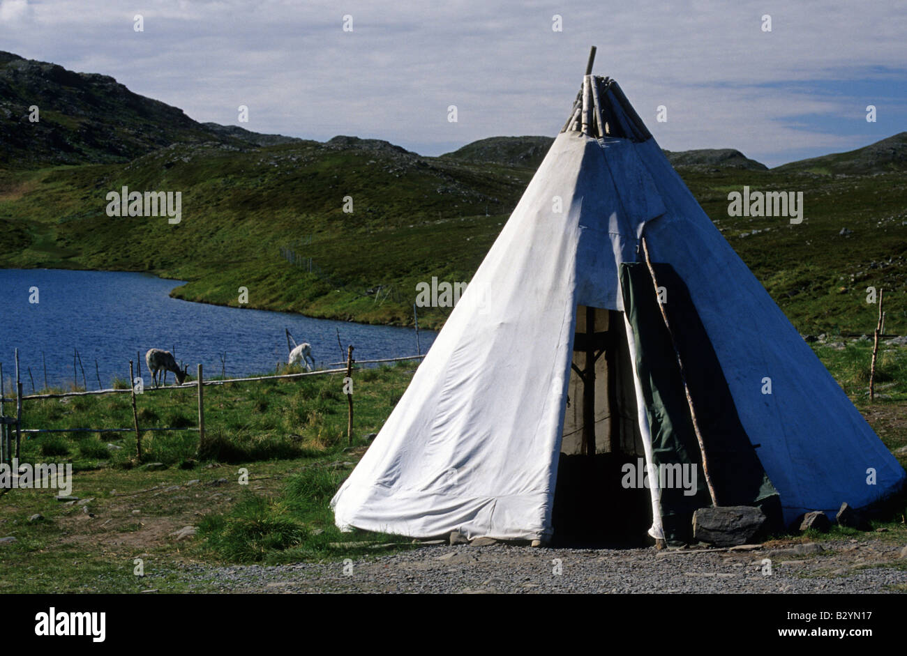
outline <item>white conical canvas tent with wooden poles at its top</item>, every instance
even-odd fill
[[[583,476],[614,485],[569,486]],[[331,505],[345,529],[542,542],[566,506],[595,525],[632,507],[652,537],[685,539],[713,496],[789,524],[903,481],[617,82],[587,75]]]

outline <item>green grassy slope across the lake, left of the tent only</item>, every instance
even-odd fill
[[[410,323],[415,284],[469,280],[531,175],[350,138],[177,144],[126,166],[0,171],[0,265],[155,271],[189,280],[178,291],[189,300],[237,304],[246,286],[252,307]],[[107,217],[105,195],[122,186],[181,191],[180,224]],[[366,294],[379,285],[380,299]],[[444,310],[424,319],[436,325]]]

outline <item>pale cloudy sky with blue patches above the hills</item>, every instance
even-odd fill
[[[423,155],[555,136],[591,45],[668,150],[771,167],[907,130],[901,0],[0,0],[0,50],[111,75],[196,121]]]

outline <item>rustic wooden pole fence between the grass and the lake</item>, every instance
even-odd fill
[[[234,382],[259,382],[259,381],[276,381],[276,380],[292,380],[298,378],[306,378],[308,376],[324,376],[324,375],[336,375],[338,373],[345,374],[346,378],[352,381],[353,371],[360,368],[363,364],[372,364],[378,362],[405,362],[412,360],[420,360],[423,355],[412,355],[402,358],[383,358],[380,360],[364,360],[362,362],[356,362],[353,360],[353,346],[349,346],[347,349],[346,362],[333,362],[328,366],[335,365],[344,365],[343,368],[339,369],[322,369],[317,371],[303,371],[299,373],[280,373],[274,375],[266,376],[249,376],[245,378],[229,378],[229,379],[219,379],[219,380],[204,380],[202,373],[201,364],[198,365],[197,378],[195,381],[184,382],[182,384],[174,384],[170,386],[161,386],[161,387],[148,387],[145,388],[141,385],[141,391],[139,394],[146,393],[159,393],[164,391],[183,391],[195,389],[197,407],[199,412],[198,425],[195,427],[176,427],[176,428],[152,428],[146,427],[141,428],[139,426],[139,417],[137,410],[136,402],[136,384],[133,377],[133,362],[129,362],[130,367],[130,387],[127,389],[107,389],[107,390],[92,390],[92,391],[63,391],[63,392],[45,392],[40,394],[28,394],[24,395],[22,393],[22,381],[20,380],[20,369],[19,369],[19,350],[15,350],[15,399],[14,398],[5,398],[5,381],[3,376],[3,363],[0,362],[0,462],[11,462],[12,458],[19,458],[20,448],[21,448],[21,439],[25,435],[26,438],[29,435],[36,433],[69,433],[69,432],[94,432],[94,433],[116,433],[116,432],[134,432],[136,439],[136,455],[138,459],[141,460],[141,433],[146,430],[154,431],[168,431],[168,430],[192,430],[198,431],[200,439],[204,438],[205,435],[205,406],[204,406],[204,388],[209,385],[226,385]],[[356,366],[359,365],[359,366]],[[73,428],[73,429],[23,429],[22,420],[23,420],[23,407],[25,401],[32,400],[46,400],[46,399],[65,399],[70,397],[80,397],[80,396],[98,396],[105,394],[130,394],[132,402],[132,427],[131,428],[104,428],[104,429],[95,429],[95,428]],[[352,391],[346,393],[347,401],[347,439],[349,443],[353,442],[353,394]],[[7,416],[5,414],[5,403],[15,403],[15,415]],[[14,439],[15,438],[15,439]],[[14,446],[15,443],[15,446]]]

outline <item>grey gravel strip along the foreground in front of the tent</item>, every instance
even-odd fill
[[[907,592],[907,547],[879,539],[746,550],[548,549],[432,545],[371,560],[188,565],[225,593],[887,593]],[[805,552],[805,553],[804,553]],[[771,574],[764,574],[764,559]],[[556,570],[559,568],[560,573]]]

